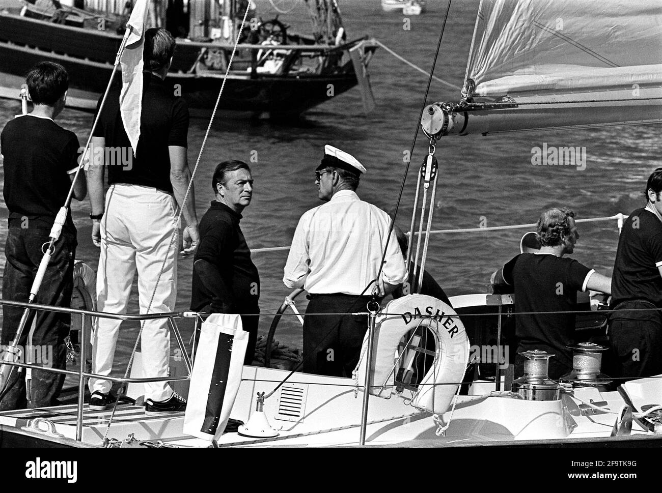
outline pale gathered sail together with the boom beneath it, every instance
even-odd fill
[[[662,2],[481,0],[455,109],[446,134],[662,122]]]

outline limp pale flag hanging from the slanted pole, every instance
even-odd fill
[[[138,149],[140,138],[140,114],[142,105],[142,51],[148,14],[148,0],[138,0],[133,6],[131,17],[126,22],[124,51],[120,56],[122,66],[122,91],[120,113],[133,154]]]

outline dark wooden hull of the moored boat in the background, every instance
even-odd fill
[[[0,72],[24,77],[37,62],[51,60],[62,64],[70,74],[71,88],[87,93],[78,95],[77,99],[86,101],[76,101],[75,107],[93,110],[111,76],[120,41],[120,36],[108,32],[0,14]],[[166,81],[173,87],[179,87],[191,109],[211,111],[224,73],[199,70],[190,73],[201,49],[205,47],[224,49],[220,45],[178,40],[173,66]],[[293,116],[357,84],[354,66],[348,61],[326,75],[294,72],[252,74],[246,60],[238,60],[233,68],[218,104],[221,110]],[[17,91],[19,88],[20,85]],[[11,97],[11,89],[3,86],[0,95],[9,94]]]

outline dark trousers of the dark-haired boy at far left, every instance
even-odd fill
[[[49,228],[30,226],[20,228],[10,226],[5,245],[5,273],[3,275],[3,298],[5,300],[27,302],[30,296],[32,281],[43,257],[42,245],[48,242]],[[38,304],[53,306],[71,306],[71,291],[73,289],[73,261],[75,258],[75,235],[63,231],[55,244],[48,269],[44,275],[41,287],[34,298]],[[23,308],[3,306],[3,328],[1,343],[3,347],[11,343],[16,336],[23,315]],[[69,314],[55,312],[31,311],[23,330],[19,345],[23,349],[28,346],[28,334],[35,320],[32,334],[33,355],[42,355],[42,363],[52,368],[66,368],[66,345],[64,339],[69,334]],[[52,351],[52,352],[51,352]],[[52,361],[46,361],[52,355]],[[44,357],[46,356],[46,357]],[[25,363],[26,361],[21,361]],[[31,396],[27,402],[25,375],[26,371],[16,368],[9,379],[7,394],[0,402],[0,410],[13,410],[25,408],[29,404],[33,408],[56,406],[58,396],[64,384],[64,375],[46,371],[32,370]]]

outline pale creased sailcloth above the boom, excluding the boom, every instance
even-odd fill
[[[475,95],[662,83],[659,0],[481,0],[466,78]]]

